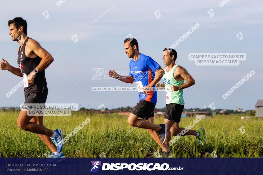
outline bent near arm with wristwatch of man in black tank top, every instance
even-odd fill
[[[26,46],[28,49],[30,49],[30,51],[42,58],[39,65],[36,66],[36,70],[38,70],[38,72],[42,72],[43,70],[47,69],[48,66],[54,61],[54,58],[50,55],[50,53],[42,48],[37,41],[29,39]]]

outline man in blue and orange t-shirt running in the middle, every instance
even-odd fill
[[[164,71],[151,57],[139,52],[139,45],[135,38],[126,38],[123,43],[125,53],[129,58],[132,58],[129,64],[129,75],[121,76],[114,70],[110,70],[108,76],[125,83],[136,83],[139,103],[129,115],[128,123],[133,127],[147,129],[163,151],[167,151],[167,147],[163,145],[166,140],[167,125],[157,125],[153,122],[154,109],[157,103],[155,87],[156,83],[163,77]],[[139,117],[142,119],[138,119]]]

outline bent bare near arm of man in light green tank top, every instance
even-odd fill
[[[192,76],[187,72],[185,68],[178,66],[177,72],[178,72],[177,74],[181,75],[181,77],[184,78],[186,82],[180,86],[171,86],[172,91],[178,91],[181,89],[185,89],[195,84],[194,78],[192,78]]]

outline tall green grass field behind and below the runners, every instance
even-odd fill
[[[16,125],[18,112],[0,112],[0,157],[45,157],[50,151],[36,134],[22,131]],[[170,146],[175,157],[261,157],[263,156],[263,119],[251,117],[241,120],[242,115],[217,115],[202,119],[193,129],[203,126],[207,144],[203,147],[193,136],[182,136]],[[127,117],[114,114],[73,113],[70,117],[45,117],[47,128],[62,128],[64,137],[70,134],[86,118],[90,122],[65,143],[66,157],[154,157],[160,150],[145,129],[128,125]],[[180,126],[189,125],[193,117],[182,118]],[[163,117],[155,117],[162,123]],[[238,129],[244,126],[242,135]],[[75,130],[76,131],[76,130]],[[173,137],[172,137],[173,138]]]

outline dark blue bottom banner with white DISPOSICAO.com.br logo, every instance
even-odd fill
[[[262,158],[0,158],[0,174],[263,174]]]

